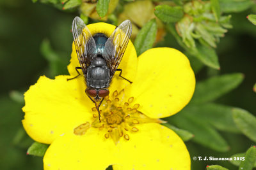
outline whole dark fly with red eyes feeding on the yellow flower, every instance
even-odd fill
[[[99,121],[99,107],[104,97],[109,95],[108,88],[115,72],[120,71],[119,76],[124,78],[122,69],[117,67],[129,43],[131,32],[132,24],[130,20],[122,22],[109,37],[103,33],[92,35],[81,18],[75,17],[73,20],[72,33],[80,63],[80,67],[76,67],[77,76],[80,75],[77,69],[81,69],[86,82],[85,92],[97,108]],[[77,76],[74,78],[77,78]]]

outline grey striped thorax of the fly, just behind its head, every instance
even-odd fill
[[[103,89],[109,87],[109,68],[106,66],[89,66],[87,70],[86,83],[88,87]]]

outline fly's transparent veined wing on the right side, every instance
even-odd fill
[[[111,77],[119,66],[132,33],[130,20],[122,22],[105,43],[103,58],[108,62]]]

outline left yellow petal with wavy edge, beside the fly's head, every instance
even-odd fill
[[[70,76],[51,80],[41,76],[25,93],[22,124],[31,138],[40,143],[52,141],[64,132],[92,119],[95,106],[84,92],[83,78]]]

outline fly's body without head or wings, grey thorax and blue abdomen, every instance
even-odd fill
[[[97,53],[97,57],[92,60],[87,69],[86,84],[93,89],[105,89],[109,87],[111,80],[109,67],[102,57],[108,38],[102,33],[97,33],[93,36],[93,39],[96,44],[95,53]]]

